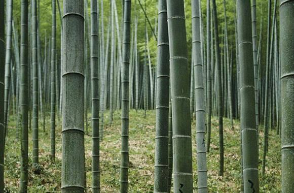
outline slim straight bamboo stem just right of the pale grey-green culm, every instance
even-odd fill
[[[206,69],[207,69],[207,146],[206,150],[209,152],[210,135],[211,135],[211,64],[210,64],[210,0],[206,3]]]

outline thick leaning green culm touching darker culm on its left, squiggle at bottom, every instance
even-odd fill
[[[192,193],[190,78],[183,1],[167,1],[167,16],[173,118],[173,187],[175,193]]]

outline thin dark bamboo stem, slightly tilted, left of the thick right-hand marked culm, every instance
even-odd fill
[[[214,36],[216,49],[216,65],[217,65],[217,90],[218,90],[218,133],[219,133],[219,176],[224,175],[224,128],[223,128],[223,88],[222,88],[222,66],[220,64],[220,49],[218,37],[218,21],[215,0],[212,0],[213,19],[214,19]]]

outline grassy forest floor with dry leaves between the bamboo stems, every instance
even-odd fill
[[[119,192],[121,119],[120,112],[114,113],[114,121],[108,124],[109,112],[104,115],[104,138],[100,143],[101,192]],[[229,119],[224,119],[225,172],[218,176],[218,123],[212,118],[211,150],[207,154],[209,192],[240,192],[240,127],[235,120],[232,130]],[[87,192],[91,192],[91,122],[88,116],[88,134],[85,135],[85,155],[87,171]],[[31,170],[32,135],[29,131],[29,192],[60,192],[61,186],[61,120],[56,127],[56,158],[50,160],[50,115],[47,115],[45,132],[42,120],[39,124],[39,153],[41,174]],[[129,126],[130,169],[129,192],[153,192],[154,153],[155,153],[155,111],[130,111]],[[197,192],[195,120],[193,120],[193,179],[194,192]],[[262,168],[263,128],[260,128],[260,171]],[[280,138],[275,130],[269,134],[269,151],[265,175],[260,172],[260,192],[280,192],[281,189],[281,153]],[[5,150],[6,192],[17,192],[20,176],[20,140],[17,138],[16,120],[10,117],[10,125]]]

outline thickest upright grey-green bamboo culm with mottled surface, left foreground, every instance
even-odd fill
[[[63,1],[61,192],[84,192],[84,1]]]

